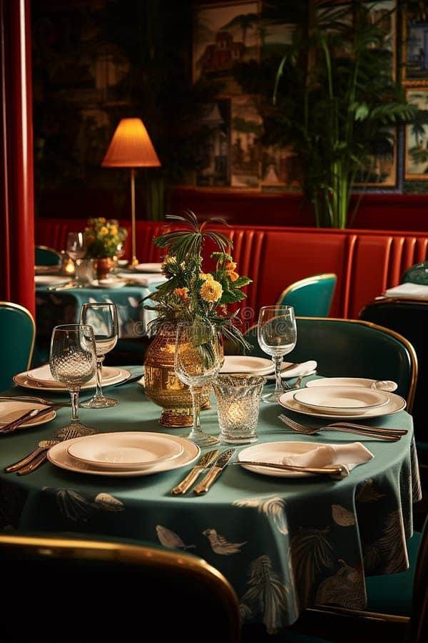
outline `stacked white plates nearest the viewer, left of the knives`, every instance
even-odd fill
[[[98,433],[51,447],[61,469],[96,476],[147,476],[193,462],[200,448],[183,437],[148,432]]]

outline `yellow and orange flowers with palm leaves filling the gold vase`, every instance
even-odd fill
[[[238,266],[230,254],[232,241],[225,234],[206,229],[210,221],[203,224],[192,211],[183,215],[169,215],[167,219],[179,221],[184,229],[173,230],[153,239],[158,248],[165,248],[162,272],[168,278],[157,286],[149,297],[155,304],[146,309],[157,312],[156,319],[149,323],[151,334],[167,321],[209,321],[225,339],[250,349],[243,333],[238,328],[238,310],[228,310],[230,304],[243,301],[246,295],[243,286],[251,283],[247,276],[238,274]],[[212,219],[214,221],[215,219]],[[215,269],[203,269],[203,241],[210,239],[218,246],[210,258],[215,261]]]

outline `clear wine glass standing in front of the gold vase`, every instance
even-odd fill
[[[180,321],[175,339],[174,368],[178,379],[187,384],[192,396],[193,427],[186,436],[199,447],[218,444],[220,438],[200,428],[200,394],[203,385],[220,370],[220,347],[215,327],[209,323]]]

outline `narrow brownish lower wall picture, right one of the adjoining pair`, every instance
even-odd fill
[[[234,96],[230,103],[232,187],[259,187],[263,121],[255,100],[252,96]]]

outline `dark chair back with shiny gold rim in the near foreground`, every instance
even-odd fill
[[[0,535],[8,585],[2,641],[9,642],[7,633],[20,643],[238,643],[238,598],[203,559],[152,544],[86,538]],[[19,623],[16,601],[23,605]]]

